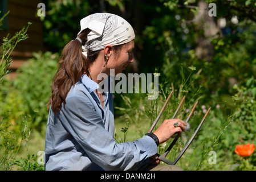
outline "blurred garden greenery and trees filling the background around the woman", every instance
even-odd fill
[[[194,127],[204,109],[212,107],[178,166],[186,170],[255,169],[255,154],[242,158],[234,150],[238,144],[255,144],[256,1],[42,2],[46,5],[46,16],[40,17],[44,50],[34,53],[18,69],[17,78],[3,77],[0,87],[0,119],[11,123],[11,132],[21,130],[24,121],[21,116],[31,117],[31,134],[27,136],[30,140],[23,142],[18,159],[8,164],[9,169],[40,168],[36,154],[44,150],[48,117],[44,105],[51,95],[59,54],[76,38],[80,19],[97,12],[120,15],[135,30],[135,63],[124,73],[160,73],[157,100],[147,100],[147,94],[115,94],[117,142],[134,140],[147,133],[169,91],[174,90],[171,106],[162,119],[172,117],[174,106],[184,95],[186,103],[179,117],[185,117],[186,109],[199,101],[192,119]],[[216,9],[209,7],[210,3],[215,3]],[[216,16],[210,16],[210,10],[216,10]],[[179,144],[176,152],[169,154],[170,158],[180,151],[182,140]],[[160,146],[159,152],[164,148]],[[209,151],[216,152],[216,164],[210,164]],[[34,168],[29,167],[31,164]]]

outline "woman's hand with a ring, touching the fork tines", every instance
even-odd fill
[[[174,123],[178,123],[177,126],[173,126]],[[154,132],[154,134],[159,138],[159,143],[164,143],[172,135],[182,131],[185,131],[186,123],[181,119],[166,119]]]

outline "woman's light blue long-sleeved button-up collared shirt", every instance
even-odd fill
[[[157,153],[155,141],[148,136],[116,143],[110,86],[104,93],[104,109],[94,92],[97,88],[96,82],[83,75],[70,89],[60,112],[55,115],[50,109],[46,170],[135,170]]]

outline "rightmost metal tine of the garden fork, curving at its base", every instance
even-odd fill
[[[190,144],[192,143],[192,141],[194,140],[194,138],[196,137],[198,131],[200,130],[202,124],[204,123],[209,111],[210,111],[211,107],[208,109],[208,111],[205,113],[204,118],[202,118],[201,123],[198,125],[196,131],[194,132],[194,134],[192,135],[192,137],[189,139],[189,142],[186,144],[186,146],[182,149],[182,151],[180,152],[180,154],[178,154],[177,158],[173,160],[173,162],[169,161],[166,158],[163,158],[162,156],[159,156],[159,159],[162,160],[163,162],[165,162],[166,164],[170,164],[170,165],[175,165],[178,160],[181,158],[181,156],[185,153],[185,151],[188,149],[188,147],[190,146]]]

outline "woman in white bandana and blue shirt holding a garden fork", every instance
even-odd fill
[[[96,13],[64,47],[52,83],[46,130],[46,170],[135,170],[156,158],[157,146],[186,123],[166,119],[151,135],[116,144],[112,94],[98,92],[100,73],[121,73],[133,62],[135,34],[120,16]],[[173,124],[178,123],[178,127]],[[156,163],[159,163],[157,160]],[[166,165],[162,165],[166,166]],[[171,167],[173,168],[173,167]]]

